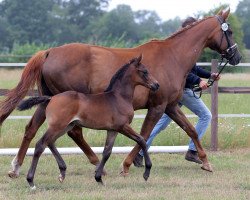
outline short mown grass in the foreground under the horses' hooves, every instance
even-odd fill
[[[153,167],[147,182],[143,168],[131,167],[128,177],[120,177],[119,166],[125,155],[111,155],[107,162],[105,186],[94,180],[94,167],[81,155],[63,156],[68,166],[65,181],[52,156],[42,156],[35,175],[35,192],[29,189],[26,173],[31,157],[26,157],[21,177],[10,179],[6,172],[12,157],[1,156],[0,199],[36,200],[129,200],[129,199],[250,199],[250,148],[208,152],[214,172],[184,160],[183,154],[151,154]]]

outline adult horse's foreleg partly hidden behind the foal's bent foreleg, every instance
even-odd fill
[[[161,105],[158,107],[153,107],[148,109],[148,113],[146,115],[146,118],[143,122],[142,128],[141,128],[141,135],[145,140],[148,139],[151,131],[153,130],[155,124],[159,121],[161,118],[163,112],[165,110],[165,105]],[[140,146],[138,144],[135,145],[135,147],[132,149],[132,151],[129,153],[129,155],[125,158],[125,160],[122,163],[122,171],[121,174],[128,174],[129,167],[133,163],[133,160],[137,153],[140,151]]]

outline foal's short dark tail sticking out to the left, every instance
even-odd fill
[[[17,110],[23,111],[28,110],[32,108],[35,105],[38,105],[40,103],[48,103],[50,101],[51,97],[49,96],[42,96],[42,97],[31,97],[29,99],[21,101],[18,106]]]

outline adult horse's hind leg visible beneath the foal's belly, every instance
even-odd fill
[[[81,150],[88,157],[89,162],[93,165],[98,165],[100,163],[97,155],[93,152],[88,143],[84,140],[82,136],[82,128],[78,126],[74,126],[71,131],[68,131],[69,137],[71,137],[74,142],[81,148]]]

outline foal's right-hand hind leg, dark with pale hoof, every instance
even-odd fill
[[[55,147],[55,143],[49,144],[48,147],[49,147],[50,151],[52,152],[52,154],[54,155],[56,162],[58,164],[58,167],[60,170],[60,175],[58,177],[58,180],[62,183],[63,180],[65,179],[67,166],[66,166],[63,158],[61,157],[60,153],[58,152],[57,148]]]

